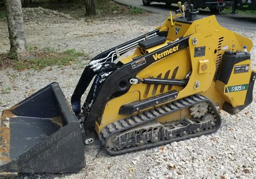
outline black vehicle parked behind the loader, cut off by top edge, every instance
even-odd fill
[[[165,3],[171,5],[172,3],[178,3],[180,0],[142,0],[143,5],[150,5],[151,2]],[[249,0],[250,1],[250,0]],[[255,0],[254,0],[255,1]],[[226,5],[230,5],[232,1],[214,1],[214,0],[181,0],[181,3],[187,8],[190,4],[194,5],[194,8],[209,8],[212,12],[218,12],[225,8]]]

